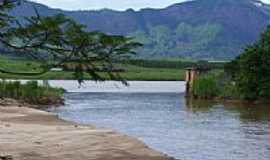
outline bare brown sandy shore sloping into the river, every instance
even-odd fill
[[[0,106],[0,160],[8,155],[13,160],[169,159],[111,130],[76,125],[36,109]]]

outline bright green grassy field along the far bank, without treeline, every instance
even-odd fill
[[[146,80],[146,81],[177,81],[185,79],[185,71],[180,68],[160,68],[159,66],[144,67],[136,64],[118,64],[120,68],[126,70],[121,73],[121,76],[126,80]],[[38,72],[39,64],[31,61],[10,60],[5,57],[0,57],[0,68],[16,72]],[[106,75],[103,74],[105,77]],[[61,79],[72,80],[72,72],[48,72],[41,76],[26,77],[0,73],[0,78],[7,79]],[[91,79],[90,76],[86,76]]]

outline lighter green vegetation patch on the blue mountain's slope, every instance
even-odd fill
[[[143,57],[182,55],[195,59],[212,59],[218,57],[218,53],[228,52],[226,48],[213,48],[214,41],[221,31],[222,26],[218,24],[193,26],[180,23],[175,29],[165,25],[148,26],[147,33],[137,30],[131,36],[143,43],[144,47],[138,49],[138,53]]]

